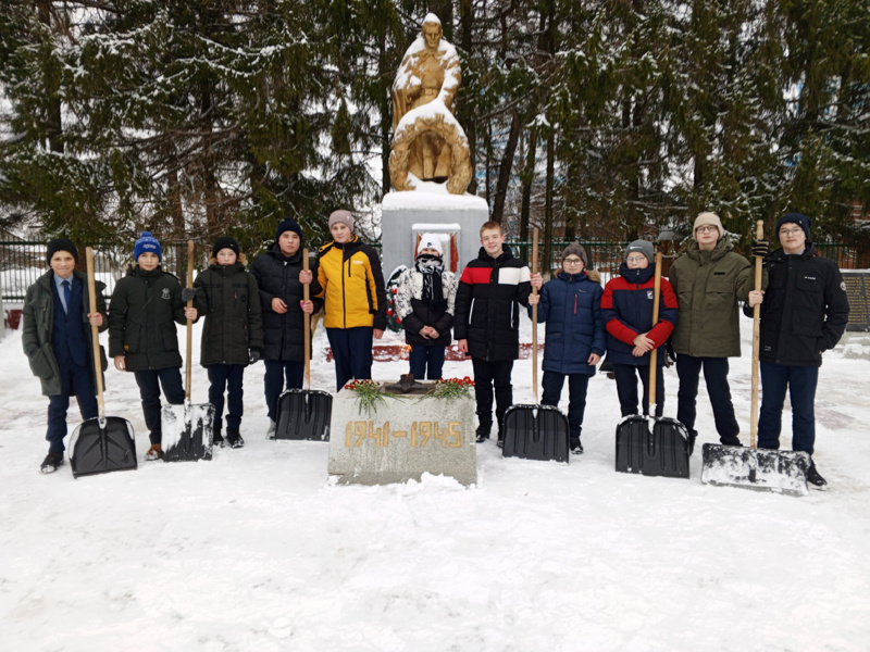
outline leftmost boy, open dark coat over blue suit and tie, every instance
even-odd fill
[[[88,313],[87,275],[75,269],[78,250],[71,240],[51,240],[46,248],[51,267],[27,288],[22,310],[22,344],[30,371],[42,384],[48,397],[48,455],[39,467],[54,473],[63,464],[63,438],[66,436],[66,411],[75,396],[83,419],[98,414],[94,348],[90,326],[109,327],[105,314],[105,286],[97,281],[97,312]],[[105,353],[100,347],[100,369],[105,368]]]

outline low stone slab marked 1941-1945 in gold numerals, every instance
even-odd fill
[[[330,475],[341,485],[420,480],[424,473],[476,482],[474,400],[398,396],[386,397],[374,414],[360,414],[351,389],[334,397]]]

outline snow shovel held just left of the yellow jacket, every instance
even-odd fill
[[[308,249],[302,250],[302,269],[308,272]],[[309,300],[309,284],[302,284],[302,298]],[[304,313],[304,349],[308,389],[287,389],[278,397],[275,439],[330,441],[333,397],[311,389],[311,315],[308,313]]]

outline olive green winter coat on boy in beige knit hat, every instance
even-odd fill
[[[724,238],[712,251],[700,251],[693,241],[671,265],[668,279],[680,304],[671,336],[678,354],[739,356],[739,302],[755,289],[755,274],[749,261],[733,249]]]

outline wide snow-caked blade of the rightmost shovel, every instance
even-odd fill
[[[705,443],[700,481],[717,487],[743,487],[787,496],[807,496],[809,455]]]

